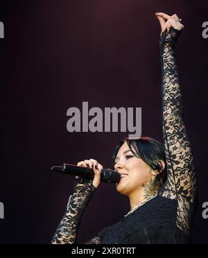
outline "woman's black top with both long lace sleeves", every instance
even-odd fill
[[[162,33],[162,121],[168,178],[157,196],[86,243],[189,243],[196,199],[196,174],[182,119],[182,92],[177,74],[175,42],[181,31]],[[77,243],[83,212],[96,191],[92,180],[76,178],[67,211],[52,243]]]

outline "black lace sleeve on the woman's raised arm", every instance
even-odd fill
[[[177,71],[175,42],[182,31],[162,33],[162,121],[168,178],[161,196],[177,200],[177,227],[189,232],[196,198],[196,173],[183,121],[182,89]]]

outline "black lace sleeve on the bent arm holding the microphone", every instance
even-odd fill
[[[74,180],[73,193],[69,196],[67,210],[53,235],[52,243],[77,243],[80,221],[95,190],[92,180]]]

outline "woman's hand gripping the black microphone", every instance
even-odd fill
[[[103,169],[103,166],[93,159],[78,162],[77,166],[90,167],[94,170],[94,180],[92,184],[94,187],[98,188],[98,185],[101,182],[101,170]]]

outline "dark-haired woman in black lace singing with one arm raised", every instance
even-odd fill
[[[182,92],[175,43],[184,26],[177,15],[156,13],[162,28],[162,127],[164,144],[150,137],[124,139],[113,155],[121,173],[116,184],[128,196],[130,212],[86,243],[189,243],[196,201],[196,173],[182,116]],[[52,243],[77,243],[78,228],[90,198],[100,184],[103,166],[96,160],[78,162],[94,169],[94,180],[76,178],[67,211]]]

